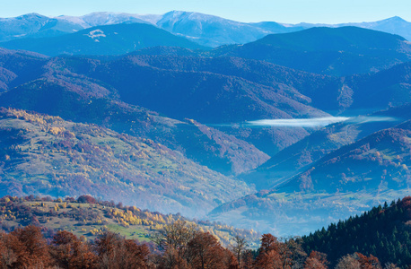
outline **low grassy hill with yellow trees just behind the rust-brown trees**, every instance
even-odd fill
[[[136,206],[127,206],[113,201],[101,201],[91,195],[81,195],[76,199],[53,199],[50,196],[13,197],[6,195],[0,198],[0,229],[11,232],[30,224],[41,226],[45,235],[50,238],[56,230],[71,230],[77,235],[82,233],[88,239],[107,230],[106,225],[117,224],[120,229],[144,228],[148,234],[162,230],[165,225],[174,221],[186,221],[208,231],[224,246],[230,244],[233,236],[239,235],[250,242],[258,241],[254,230],[237,229],[214,221],[189,220],[177,214],[162,214],[141,210]],[[61,223],[56,226],[56,223]],[[70,224],[70,225],[68,225]],[[86,230],[86,231],[82,231]]]

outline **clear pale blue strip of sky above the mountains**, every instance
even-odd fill
[[[411,22],[410,0],[0,0],[0,4],[0,17],[183,10],[240,22],[373,22],[393,16]]]

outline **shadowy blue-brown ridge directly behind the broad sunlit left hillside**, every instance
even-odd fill
[[[4,70],[13,73],[16,76],[14,81],[17,81],[24,78],[26,71],[13,65],[19,61],[21,64],[17,66],[31,62],[26,63],[20,54],[13,56],[12,52],[4,60],[4,66],[15,73]],[[116,89],[107,84],[74,74],[67,67],[53,69],[58,62],[65,60],[55,58],[46,61],[42,57],[38,58],[35,66],[39,76],[4,92],[0,106],[35,110],[152,139],[224,174],[254,169],[268,159],[265,153],[258,151],[252,144],[223,134],[213,127],[206,128],[188,119],[162,117],[153,110],[122,102],[118,100]],[[87,59],[84,62],[92,65],[96,60]]]

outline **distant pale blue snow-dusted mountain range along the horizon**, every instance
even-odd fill
[[[352,22],[341,24],[235,22],[204,13],[171,11],[160,14],[90,13],[83,16],[47,17],[37,13],[15,18],[0,19],[0,41],[22,38],[56,37],[96,26],[118,23],[146,23],[191,39],[205,47],[245,44],[268,34],[287,33],[313,27],[337,28],[355,26],[397,34],[410,40],[411,22],[392,17],[378,22]]]

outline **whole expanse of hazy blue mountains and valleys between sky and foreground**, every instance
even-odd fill
[[[411,43],[371,30],[407,22],[311,26],[4,19],[2,194],[120,194],[279,235],[407,195]]]

